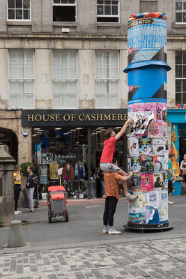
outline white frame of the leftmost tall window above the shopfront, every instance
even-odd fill
[[[12,78],[12,77],[10,78],[10,51],[11,50],[14,50],[14,51],[15,50],[16,51],[22,50],[22,51],[24,51],[24,59],[25,59],[25,55],[26,55],[26,50],[24,50],[24,49],[9,49],[8,50],[8,103],[9,103],[9,107],[11,107],[10,106],[10,80],[15,80],[15,81],[23,80],[24,82],[26,80],[33,80],[33,107],[26,107],[26,106],[24,106],[24,107],[13,107],[13,109],[34,109],[35,105],[36,105],[36,100],[35,100],[35,80],[36,80],[36,77],[35,77],[35,51],[32,50],[32,49],[29,49],[29,50],[33,51],[33,78]],[[25,70],[25,66],[24,66],[24,70]],[[16,94],[16,97],[18,98],[18,94]],[[26,102],[25,98],[26,98],[26,93],[24,93],[24,103]],[[17,100],[17,104],[18,103],[19,102]]]

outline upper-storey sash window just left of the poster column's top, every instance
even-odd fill
[[[119,22],[119,1],[97,1],[97,22]]]

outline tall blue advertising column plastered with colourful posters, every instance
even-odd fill
[[[169,227],[166,16],[133,15],[128,23],[129,228]]]

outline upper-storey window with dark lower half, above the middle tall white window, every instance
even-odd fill
[[[76,0],[53,0],[54,22],[76,22]]]

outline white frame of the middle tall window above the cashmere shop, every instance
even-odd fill
[[[75,52],[76,54],[76,78],[75,79],[54,79],[54,52],[60,52],[60,59],[61,59],[61,52]],[[68,55],[68,62],[69,62],[69,55]],[[60,64],[60,72],[61,72],[61,65]],[[69,66],[69,63],[68,63],[68,66]],[[59,107],[54,107],[54,80],[56,81],[59,81],[60,82],[60,86],[61,86],[61,81],[65,81],[65,80],[75,80],[76,81],[76,106],[75,107],[63,107],[62,105],[62,91],[60,92],[60,104],[59,104]],[[69,93],[69,92],[68,92]],[[68,98],[69,98],[69,94],[68,94]],[[69,100],[68,100],[68,103],[69,103]],[[63,110],[65,110],[65,108],[67,110],[69,109],[77,109],[78,108],[78,51],[77,50],[52,50],[52,107],[54,109],[59,109],[59,108],[63,108]]]

